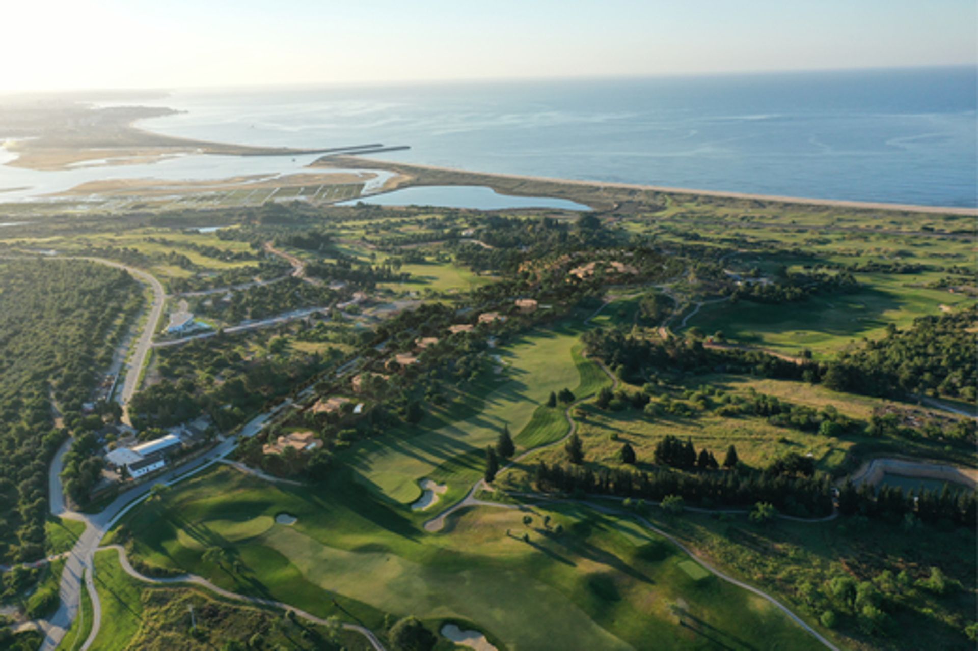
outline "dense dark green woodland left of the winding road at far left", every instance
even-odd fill
[[[83,404],[143,304],[124,271],[0,260],[0,562],[45,555],[48,463],[86,431]]]

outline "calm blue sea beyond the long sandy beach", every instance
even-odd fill
[[[978,205],[978,68],[179,91],[172,135],[472,171]]]

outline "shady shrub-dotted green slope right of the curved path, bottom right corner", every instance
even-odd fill
[[[694,546],[734,576],[770,590],[798,615],[809,619],[825,610],[837,614],[836,637],[843,648],[853,649],[969,649],[963,629],[974,622],[975,534],[936,531],[931,527],[908,531],[904,527],[859,518],[810,524],[778,520],[768,527],[748,523],[745,516],[722,519],[687,512],[668,518],[657,509],[646,517]],[[937,595],[916,586],[889,586],[879,576],[906,571],[911,582],[939,566],[960,590]],[[826,597],[822,590],[834,577],[876,580],[895,604],[887,612],[882,635],[862,632],[848,607]],[[767,648],[767,647],[764,647]]]

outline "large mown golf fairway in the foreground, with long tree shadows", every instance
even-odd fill
[[[280,512],[297,522],[269,527]],[[535,509],[530,526],[522,516],[470,509],[431,536],[343,477],[325,490],[282,490],[221,468],[134,512],[122,535],[156,565],[320,616],[342,612],[336,599],[372,627],[384,613],[413,613],[476,623],[506,648],[648,648],[655,639],[655,648],[706,649],[716,635],[763,648],[819,646],[767,602],[690,577],[685,554],[628,520],[569,505]],[[212,544],[238,569],[204,562],[201,549]]]

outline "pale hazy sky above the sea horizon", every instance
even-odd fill
[[[0,91],[974,64],[975,0],[4,0]]]

